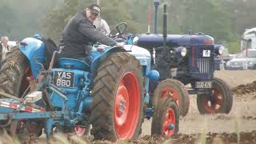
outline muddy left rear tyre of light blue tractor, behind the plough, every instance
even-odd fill
[[[30,64],[26,56],[22,54],[22,52],[18,49],[12,50],[10,54],[7,55],[6,59],[2,62],[1,65],[2,68],[0,70],[0,91],[20,98],[22,94],[27,91],[30,85],[26,78],[32,77],[30,71]],[[6,130],[13,136],[14,134],[18,134],[18,137],[20,135],[22,135],[21,137],[24,137],[25,131],[26,134],[33,133],[37,136],[38,134],[42,134],[42,129],[39,128],[38,122],[30,124],[26,124],[26,122],[11,122],[10,125],[11,126],[6,127]],[[26,127],[26,130],[24,129],[24,127]]]

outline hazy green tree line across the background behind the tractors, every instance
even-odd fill
[[[58,38],[66,22],[96,0],[2,0],[0,34],[22,39],[35,33]],[[168,5],[168,33],[203,32],[215,42],[225,43],[232,53],[239,50],[241,35],[256,23],[255,0],[161,0],[158,32],[162,32],[162,4]],[[151,8],[151,32],[154,25],[153,0],[101,0],[102,15],[110,25],[127,22],[129,32],[147,31],[147,13]]]

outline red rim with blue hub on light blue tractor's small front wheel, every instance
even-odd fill
[[[170,108],[166,111],[166,115],[162,125],[162,135],[164,137],[167,138],[174,134],[175,122],[176,122],[176,119],[175,119],[174,110]]]

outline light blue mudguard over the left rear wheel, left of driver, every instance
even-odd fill
[[[43,65],[45,62],[45,44],[38,38],[25,38],[19,43],[18,47],[30,62],[33,77],[37,78],[42,70],[40,64]]]

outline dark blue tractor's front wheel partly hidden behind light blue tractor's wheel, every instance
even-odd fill
[[[182,82],[175,79],[159,82],[154,90],[154,108],[158,108],[158,102],[165,97],[172,97],[177,103],[179,115],[186,116],[190,109],[190,97]]]

